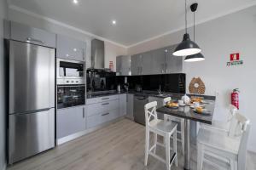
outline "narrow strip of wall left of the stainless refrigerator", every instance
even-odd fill
[[[6,111],[5,111],[5,86],[4,86],[4,54],[3,54],[3,19],[7,18],[6,0],[0,0],[0,169],[6,166]]]

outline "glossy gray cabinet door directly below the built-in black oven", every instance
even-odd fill
[[[61,139],[86,129],[85,105],[57,110],[56,136]]]

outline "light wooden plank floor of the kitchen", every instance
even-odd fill
[[[144,167],[144,127],[123,119],[89,133],[53,150],[21,161],[8,170],[161,170],[165,164],[148,156]],[[178,143],[179,144],[179,143]],[[180,150],[180,144],[178,145]],[[164,156],[164,150],[159,151]],[[196,169],[196,150],[191,149],[191,169]],[[183,169],[183,156],[178,153],[178,167]],[[210,165],[204,169],[214,170]],[[247,169],[256,169],[256,156],[248,154]]]

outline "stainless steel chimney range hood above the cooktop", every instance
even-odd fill
[[[102,70],[109,71],[104,68],[105,63],[105,46],[104,42],[98,39],[91,41],[91,68],[88,70]]]

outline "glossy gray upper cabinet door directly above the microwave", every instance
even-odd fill
[[[58,58],[84,61],[85,48],[85,42],[59,34],[57,35],[56,55]]]

